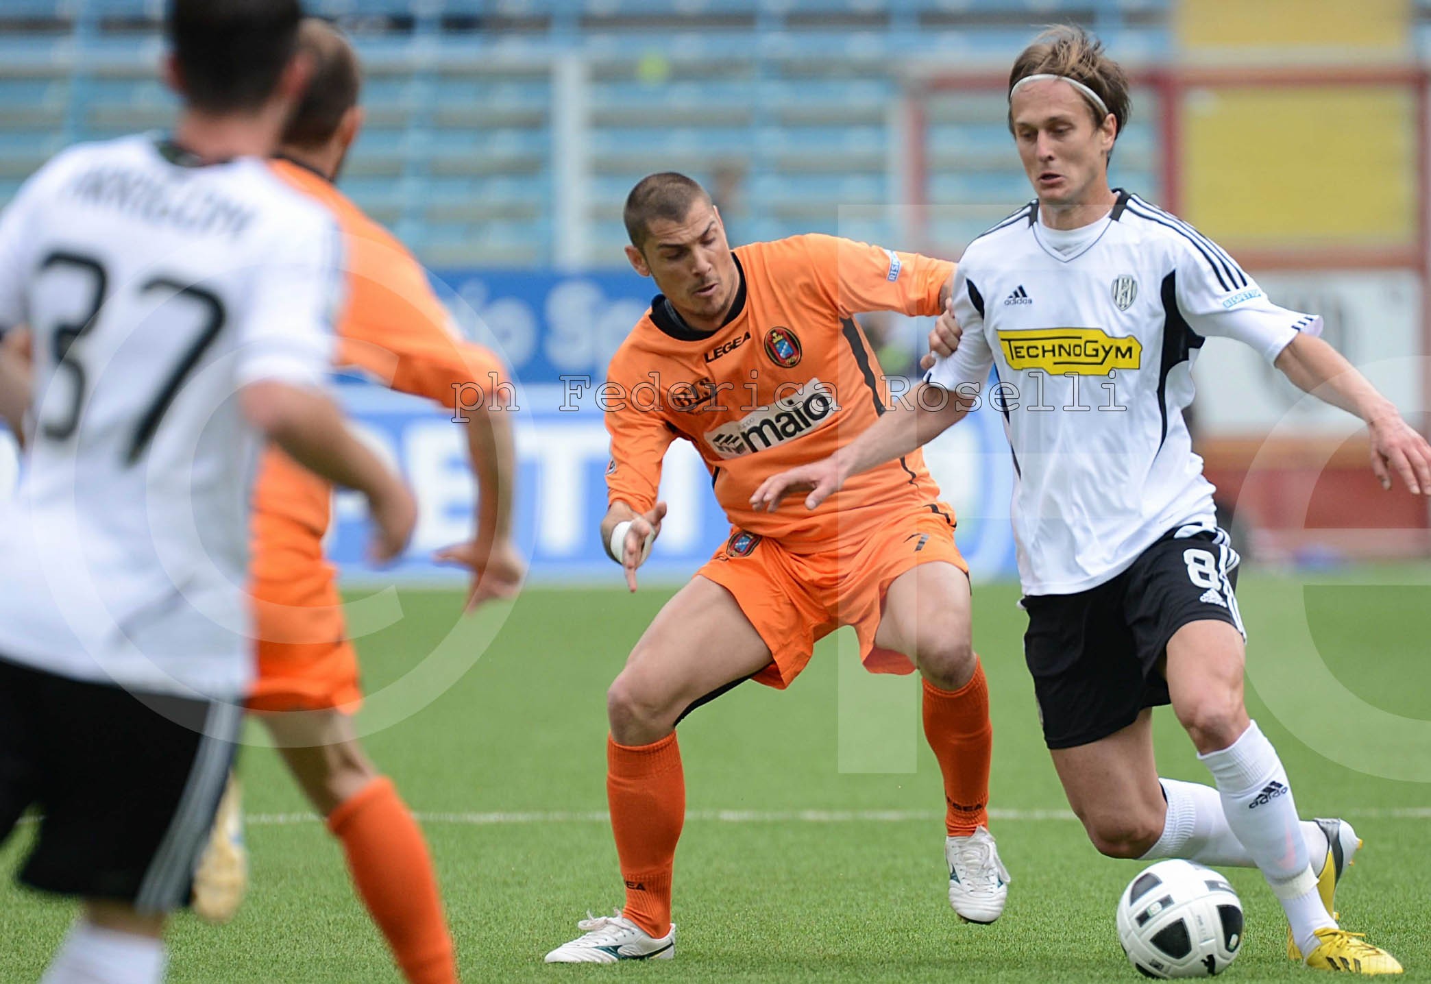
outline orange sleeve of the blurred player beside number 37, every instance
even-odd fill
[[[507,368],[491,350],[461,338],[411,253],[395,242],[351,240],[349,249],[369,256],[351,263],[351,297],[338,326],[341,365],[449,409],[474,383],[488,398],[505,396]]]

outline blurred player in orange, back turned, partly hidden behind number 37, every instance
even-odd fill
[[[517,592],[524,564],[511,543],[511,425],[494,402],[509,390],[495,356],[449,330],[442,303],[412,255],[368,219],[332,182],[362,124],[359,69],[348,41],[326,23],[303,21],[313,62],[311,90],[289,123],[273,170],[326,205],[345,237],[348,299],[338,320],[338,359],[391,389],[468,413],[467,442],[479,498],[469,543],[438,559],[472,569],[468,609]],[[469,405],[479,388],[489,398]],[[262,462],[252,543],[259,674],[250,709],[273,735],[308,800],[342,841],[358,894],[382,930],[405,978],[452,984],[456,964],[426,842],[392,782],[363,754],[352,715],[362,692],[346,638],[342,598],[322,541],[332,489],[278,451]],[[235,865],[238,798],[226,797],[209,855],[195,882],[200,912],[232,914],[242,895]],[[229,827],[225,828],[223,821]]]

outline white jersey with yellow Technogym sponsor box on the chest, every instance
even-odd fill
[[[1003,412],[1029,595],[1086,591],[1169,529],[1213,526],[1182,416],[1205,336],[1272,360],[1298,332],[1321,332],[1321,318],[1278,308],[1216,243],[1126,192],[1072,235],[1025,206],[970,243],[954,305],[959,350],[926,379]],[[990,368],[999,385],[986,388]]]

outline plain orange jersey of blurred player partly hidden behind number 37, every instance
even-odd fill
[[[321,174],[288,160],[272,166],[285,182],[328,206],[342,230],[348,290],[338,319],[341,366],[448,408],[455,406],[462,383],[491,393],[505,382],[505,369],[489,350],[449,330],[449,315],[426,273],[392,233]],[[266,452],[253,493],[255,581],[290,581],[298,574],[295,562],[322,562],[331,501],[328,482],[276,449]]]

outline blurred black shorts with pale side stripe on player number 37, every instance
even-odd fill
[[[242,708],[87,684],[0,658],[0,841],[29,807],[34,888],[187,905]]]

